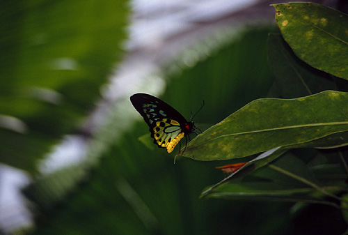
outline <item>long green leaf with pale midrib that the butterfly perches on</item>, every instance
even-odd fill
[[[348,130],[348,94],[324,91],[298,99],[260,99],[193,139],[194,160],[242,158],[279,146],[303,144]]]

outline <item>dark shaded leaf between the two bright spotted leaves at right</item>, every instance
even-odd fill
[[[336,90],[333,78],[308,66],[291,50],[280,34],[270,33],[267,41],[269,66],[274,72],[275,98],[299,98]]]

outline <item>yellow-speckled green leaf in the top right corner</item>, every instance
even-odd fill
[[[317,3],[272,6],[283,38],[300,59],[348,79],[348,15]]]

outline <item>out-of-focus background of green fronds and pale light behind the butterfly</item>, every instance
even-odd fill
[[[205,100],[201,130],[269,96],[269,4],[280,2],[1,1],[0,234],[344,230],[330,207],[199,199],[230,162],[174,165],[174,153],[139,140],[150,133],[133,93],[187,119]],[[347,13],[347,1],[313,2]]]

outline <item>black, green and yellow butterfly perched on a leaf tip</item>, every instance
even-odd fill
[[[148,124],[151,137],[159,148],[171,153],[180,139],[195,132],[193,121],[187,121],[171,105],[145,93],[136,93],[130,97],[136,111]]]

